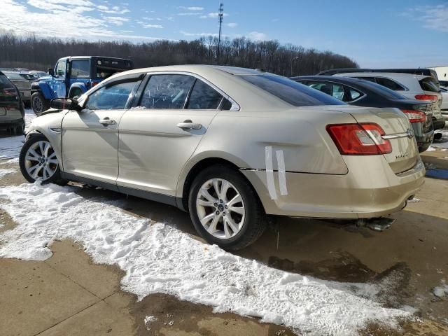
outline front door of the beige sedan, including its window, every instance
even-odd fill
[[[109,83],[87,97],[83,111],[66,114],[62,121],[65,173],[116,185],[118,125],[137,83]]]

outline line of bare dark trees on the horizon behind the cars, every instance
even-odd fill
[[[330,51],[305,49],[279,41],[251,41],[241,37],[225,38],[218,57],[218,39],[214,36],[195,41],[62,40],[18,36],[0,31],[0,67],[44,70],[64,56],[102,55],[125,57],[137,68],[169,64],[225,64],[278,73],[283,76],[309,75],[325,69],[358,67],[352,59]]]

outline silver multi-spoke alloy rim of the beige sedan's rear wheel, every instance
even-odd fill
[[[216,238],[230,239],[243,228],[246,214],[243,199],[225,179],[210,179],[201,186],[196,210],[202,226]]]

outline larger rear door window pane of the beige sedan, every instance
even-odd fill
[[[187,75],[153,75],[139,106],[146,109],[183,109],[195,78]]]

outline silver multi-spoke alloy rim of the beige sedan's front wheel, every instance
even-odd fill
[[[55,150],[48,141],[36,141],[28,148],[25,169],[34,180],[50,179],[57,171],[58,165]]]

